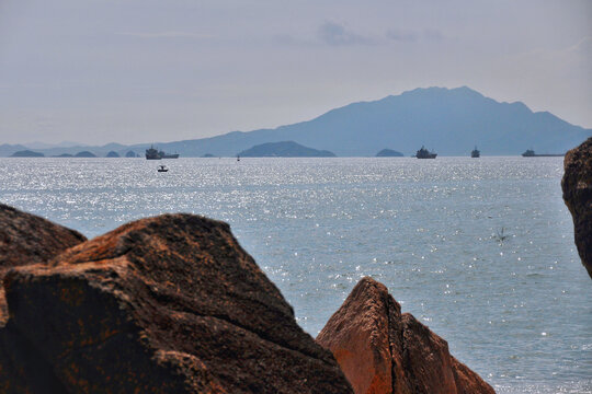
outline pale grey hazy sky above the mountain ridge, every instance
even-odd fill
[[[591,0],[0,0],[0,144],[196,139],[467,85],[592,128]]]

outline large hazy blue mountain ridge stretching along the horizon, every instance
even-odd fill
[[[532,112],[521,102],[500,103],[469,88],[415,89],[373,102],[353,103],[329,111],[311,120],[221,136],[153,143],[182,158],[232,157],[250,147],[294,141],[340,157],[373,157],[384,147],[410,155],[421,146],[442,155],[469,155],[478,146],[482,155],[517,155],[526,149],[537,153],[563,153],[588,137],[592,129],[556,117]],[[104,157],[113,150],[121,155],[129,149],[144,152],[151,143],[84,147]],[[2,148],[4,146],[1,146]],[[45,155],[76,153],[82,147],[42,149]],[[8,155],[0,149],[1,155]]]

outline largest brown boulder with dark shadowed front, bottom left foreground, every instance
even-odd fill
[[[0,392],[352,392],[226,223],[139,220],[4,283]]]

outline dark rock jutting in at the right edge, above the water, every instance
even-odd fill
[[[563,200],[573,217],[578,253],[592,278],[592,138],[567,152],[563,169]]]

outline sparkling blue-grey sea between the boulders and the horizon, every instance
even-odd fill
[[[0,201],[92,237],[230,223],[312,336],[363,276],[500,393],[592,392],[592,281],[562,158],[0,159]]]

